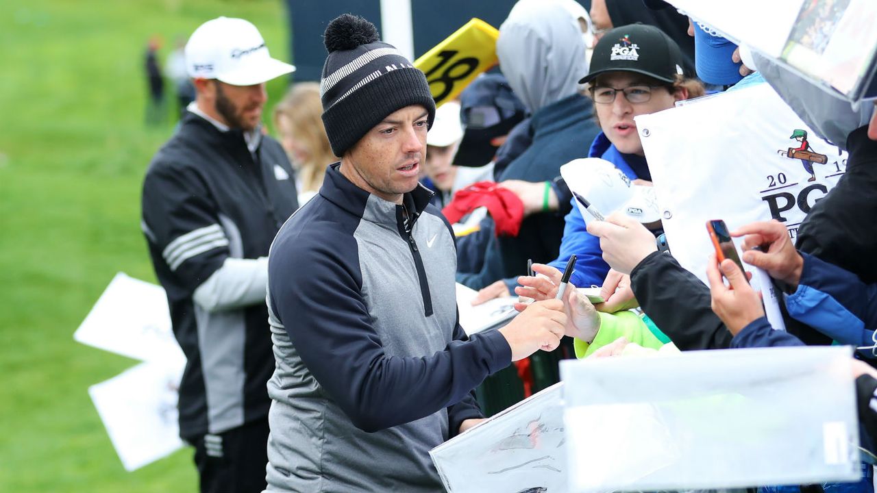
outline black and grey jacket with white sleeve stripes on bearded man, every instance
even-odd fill
[[[146,171],[141,226],[188,359],[179,401],[185,439],[267,416],[265,384],[274,371],[267,261],[247,259],[267,256],[297,206],[295,176],[280,144],[262,137],[251,154],[242,132],[222,132],[191,112]],[[255,276],[234,275],[247,270]],[[216,282],[211,276],[222,271],[232,275]],[[210,279],[226,297],[249,294],[237,303],[196,303],[196,291]]]

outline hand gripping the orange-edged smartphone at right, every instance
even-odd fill
[[[721,273],[719,272],[721,268]],[[728,288],[722,282],[722,274],[731,282]],[[712,297],[712,310],[721,318],[732,335],[737,335],[746,325],[765,316],[761,306],[761,297],[746,282],[745,274],[731,259],[725,259],[718,265],[716,255],[709,257],[707,263],[709,279],[709,295]]]

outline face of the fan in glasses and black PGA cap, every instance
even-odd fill
[[[600,88],[624,89],[631,86],[650,86],[659,83],[650,77],[632,72],[609,72],[598,76],[594,85],[596,90],[599,90]],[[594,104],[603,133],[612,144],[615,144],[618,151],[624,154],[645,155],[633,117],[673,108],[676,100],[682,98],[678,93],[674,95],[665,87],[651,88],[651,92],[651,98],[645,103],[632,104],[619,90],[612,103]]]

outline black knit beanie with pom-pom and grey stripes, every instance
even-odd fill
[[[344,155],[363,135],[397,110],[420,104],[436,116],[426,76],[392,45],[379,40],[364,18],[342,14],[326,27],[329,56],[320,78],[323,123],[332,153]]]

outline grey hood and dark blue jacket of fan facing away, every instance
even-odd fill
[[[497,181],[550,182],[560,166],[588,154],[597,128],[593,105],[578,91],[588,72],[581,28],[556,2],[518,2],[500,27],[496,41],[503,75],[532,112],[532,143],[511,161]],[[517,237],[498,240],[502,277],[525,272],[527,259],[557,257],[563,218],[542,212],[524,218]]]

